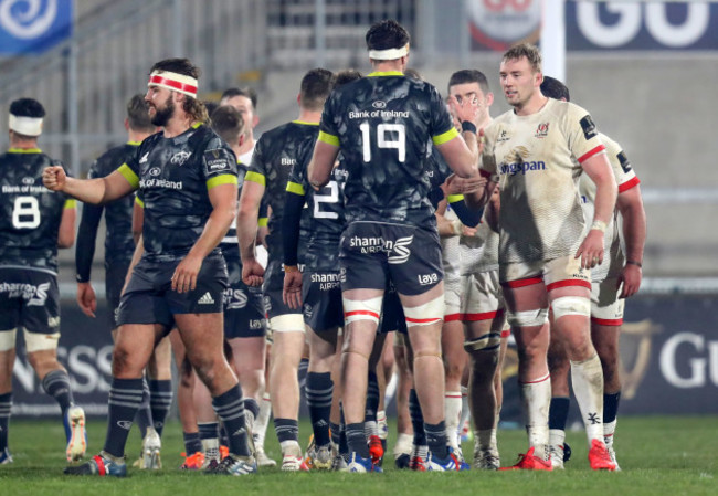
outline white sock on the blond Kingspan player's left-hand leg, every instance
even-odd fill
[[[542,378],[521,383],[521,400],[527,419],[528,443],[534,455],[548,460],[549,407],[551,404],[551,380],[547,373]]]

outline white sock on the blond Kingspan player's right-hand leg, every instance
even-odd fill
[[[571,361],[571,384],[591,446],[591,440],[603,441],[603,368],[598,355]]]

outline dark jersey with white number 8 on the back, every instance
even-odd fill
[[[42,184],[42,171],[50,166],[62,163],[38,148],[0,155],[0,267],[57,272],[62,212],[74,209],[75,200]]]

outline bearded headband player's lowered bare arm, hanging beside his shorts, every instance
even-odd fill
[[[215,186],[208,191],[208,194],[210,203],[212,203],[212,213],[207,219],[202,234],[187,256],[177,265],[172,275],[172,289],[178,293],[187,293],[197,287],[197,275],[202,266],[202,261],[220,244],[234,221],[236,184]]]

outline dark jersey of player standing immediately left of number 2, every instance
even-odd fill
[[[272,208],[270,234],[266,238],[271,260],[282,262],[284,256],[282,218],[289,172],[298,161],[302,147],[314,145],[318,133],[317,124],[293,120],[264,133],[254,149],[244,180],[265,187],[264,200]]]

